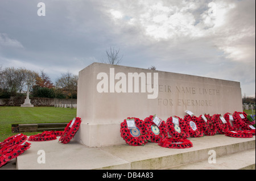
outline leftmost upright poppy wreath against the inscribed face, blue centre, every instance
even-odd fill
[[[125,142],[131,146],[141,146],[147,143],[147,139],[144,136],[146,127],[143,120],[140,120],[136,117],[127,117],[127,119],[134,119],[136,124],[135,129],[128,129],[126,119],[121,123],[121,137]]]

